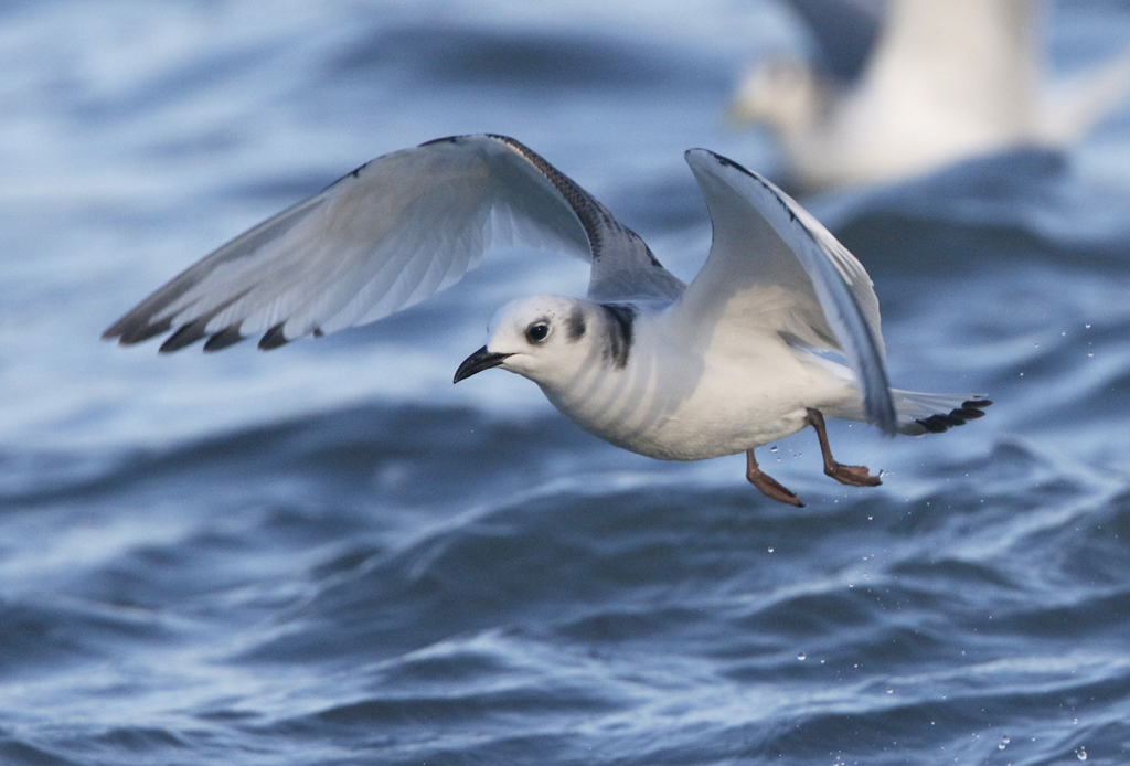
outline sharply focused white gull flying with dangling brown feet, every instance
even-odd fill
[[[457,136],[379,157],[240,235],[142,301],[104,338],[206,351],[260,336],[271,349],[388,316],[450,287],[492,244],[592,264],[586,299],[538,295],[490,320],[458,383],[490,367],[537,383],[585,430],[660,460],[745,452],[746,478],[801,505],[754,449],[824,419],[885,434],[939,433],[991,402],[887,384],[879,304],[855,258],[781,190],[706,149],[686,153],[714,227],[690,285],[540,156],[505,136]],[[838,354],[843,364],[826,358]]]

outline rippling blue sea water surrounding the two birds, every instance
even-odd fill
[[[1052,68],[1130,41],[1057,6]],[[692,277],[681,151],[768,0],[41,0],[0,7],[0,763],[1125,764],[1130,105],[1015,153],[809,200],[869,268],[896,385],[988,417],[834,424],[763,465],[617,451],[536,386],[452,386],[505,253],[438,299],[262,354],[98,334],[372,156],[525,141]]]

